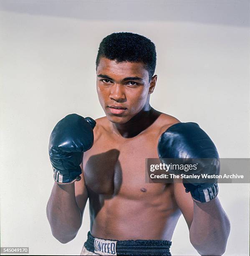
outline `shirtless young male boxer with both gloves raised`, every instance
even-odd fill
[[[91,118],[68,115],[51,134],[55,184],[47,216],[53,236],[68,243],[89,200],[91,226],[81,255],[171,255],[181,214],[201,255],[225,252],[230,223],[216,197],[216,182],[205,187],[145,182],[146,158],[217,156],[198,125],[150,106],[155,66],[149,39],[134,33],[107,36],[96,59],[96,89],[106,116],[95,125]],[[208,148],[202,156],[201,139]]]

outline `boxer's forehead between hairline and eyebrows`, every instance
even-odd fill
[[[116,62],[102,57],[97,67],[97,74],[109,76],[141,77],[147,79],[148,72],[141,62]]]

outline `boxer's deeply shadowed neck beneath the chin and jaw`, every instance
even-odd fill
[[[159,116],[149,104],[126,123],[112,123],[114,133],[124,138],[132,138],[148,128]]]

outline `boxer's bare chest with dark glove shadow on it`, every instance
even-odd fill
[[[158,136],[137,136],[118,141],[101,136],[83,156],[83,174],[86,186],[95,194],[119,195],[136,200],[158,195],[164,184],[145,181],[146,158],[158,158]]]

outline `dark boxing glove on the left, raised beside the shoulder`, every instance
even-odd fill
[[[70,114],[54,127],[49,140],[49,157],[58,184],[71,184],[81,179],[83,152],[93,146],[96,121]]]

